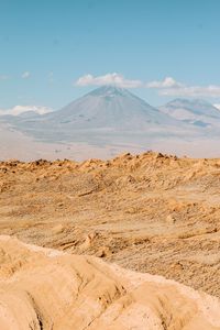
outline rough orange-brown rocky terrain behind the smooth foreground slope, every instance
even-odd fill
[[[0,163],[0,234],[220,297],[220,160]]]

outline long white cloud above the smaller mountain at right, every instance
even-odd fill
[[[161,81],[151,81],[146,84],[147,88],[160,90],[163,96],[180,96],[180,97],[219,97],[220,86],[188,86],[175,80],[172,77],[166,77]]]

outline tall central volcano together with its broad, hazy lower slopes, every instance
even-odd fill
[[[185,123],[179,124],[129,90],[114,86],[97,88],[57,111],[11,118],[10,123],[47,142],[86,142],[101,146],[112,142],[139,144],[154,136],[184,135],[188,130]]]

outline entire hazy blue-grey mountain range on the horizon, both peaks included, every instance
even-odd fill
[[[205,100],[176,99],[155,108],[114,86],[97,88],[57,111],[1,116],[0,123],[42,143],[82,143],[117,151],[162,148],[193,155],[198,143],[216,143],[220,136],[220,111]]]

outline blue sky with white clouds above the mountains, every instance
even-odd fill
[[[153,106],[220,103],[219,13],[219,0],[0,0],[0,110],[56,110],[106,84]]]

